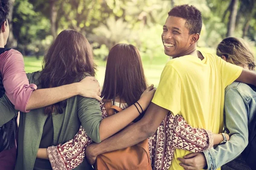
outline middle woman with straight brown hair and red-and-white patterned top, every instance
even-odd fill
[[[111,101],[112,105],[125,109],[138,100],[146,87],[143,65],[138,49],[134,47],[134,45],[114,45],[107,59],[105,81],[102,88],[103,101],[107,103]],[[125,111],[127,109],[125,109]],[[135,119],[134,122],[140,119],[141,116]],[[174,138],[171,136],[166,136],[166,128],[168,127],[166,123],[168,121],[175,122],[171,128],[172,135],[175,139],[179,138],[180,140],[173,140]],[[161,159],[161,155],[166,155],[166,153],[159,152],[161,147],[163,147],[163,143],[165,143],[163,141],[169,142],[171,147],[168,148],[171,150],[168,151],[172,153],[174,151],[172,147],[180,147],[180,149],[187,150],[188,148],[182,146],[188,146],[190,144],[193,144],[194,147],[192,149],[194,152],[206,150],[211,148],[213,144],[220,143],[221,140],[221,134],[212,135],[212,133],[207,130],[193,128],[186,123],[182,116],[169,114],[160,125],[155,135],[149,139],[148,142],[149,150],[151,150],[152,153],[152,167],[157,165],[157,167],[161,169],[162,167],[168,166],[168,163],[170,163],[167,161],[163,162]],[[159,141],[161,142],[159,143]],[[67,143],[58,144],[57,146],[48,147],[47,149],[40,148],[38,150],[38,157],[43,159],[49,158],[52,169],[54,170],[71,170],[83,161],[84,148],[90,143],[91,141],[86,131],[80,127],[76,136]],[[186,144],[183,145],[183,143]],[[129,158],[127,158],[127,160],[129,160]]]

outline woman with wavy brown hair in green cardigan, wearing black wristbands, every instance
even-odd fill
[[[79,82],[87,75],[95,76],[95,68],[92,48],[84,35],[75,30],[64,30],[45,54],[42,71],[29,74],[28,78],[29,82],[35,83],[38,88],[53,88]],[[138,102],[145,110],[155,90],[152,90],[152,86],[146,89],[145,82],[141,89],[142,95],[136,96],[136,100],[131,102]],[[117,95],[122,96],[122,94]],[[37,158],[38,148],[67,142],[75,136],[80,125],[90,139],[101,142],[140,115],[136,105],[102,119],[100,105],[96,99],[74,96],[54,105],[32,110],[29,114],[20,113],[15,168],[52,169],[49,160]],[[91,167],[83,161],[77,169],[84,170]]]

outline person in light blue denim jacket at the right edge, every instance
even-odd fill
[[[228,37],[222,40],[218,44],[217,55],[244,69],[255,70],[253,53],[241,38]],[[224,165],[223,170],[251,170],[250,167],[255,168],[253,165],[249,167],[246,163],[247,159],[251,160],[250,163],[255,162],[255,157],[247,157],[248,149],[252,148],[246,147],[248,142],[252,140],[250,134],[255,133],[253,128],[256,120],[256,87],[241,82],[233,82],[225,89],[224,102],[224,130],[229,133],[230,141],[217,146],[215,149],[211,148],[204,151],[204,153],[192,153],[186,156],[185,159],[181,159],[184,168],[200,170],[206,165],[209,170],[215,170],[222,165]],[[245,148],[246,150],[244,150]]]

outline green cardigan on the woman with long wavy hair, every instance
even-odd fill
[[[38,85],[38,89],[41,88],[38,83],[39,75],[40,72],[27,75],[29,83]],[[62,114],[52,114],[54,145],[73,139],[80,125],[94,142],[100,142],[99,124],[102,113],[96,99],[74,96],[67,99],[67,107],[63,110]],[[16,170],[33,169],[46,119],[44,108],[20,113]],[[75,169],[84,170],[84,166],[86,165],[82,163]]]

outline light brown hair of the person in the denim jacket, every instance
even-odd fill
[[[250,70],[255,69],[255,61],[252,51],[241,38],[227,37],[222,40],[217,47],[216,54],[221,57],[225,56],[227,62],[241,67],[248,66]]]

